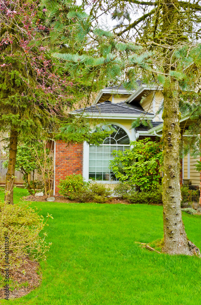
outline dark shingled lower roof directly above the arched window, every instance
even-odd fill
[[[105,101],[98,103],[97,105],[92,105],[89,107],[80,108],[74,110],[72,113],[97,113],[97,114],[146,114],[154,115],[154,113],[147,113],[140,105],[131,105],[125,102],[112,103],[110,101]]]

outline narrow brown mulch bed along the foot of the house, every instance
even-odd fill
[[[73,203],[79,203],[79,202],[76,202],[76,201],[72,201],[72,200],[70,200],[70,199],[68,199],[66,197],[63,197],[63,196],[53,196],[53,195],[51,195],[51,197],[55,198],[54,202],[64,202],[64,203],[73,202]],[[46,197],[46,196],[37,196],[37,197],[35,197],[35,195],[29,195],[29,196],[22,197],[22,198],[25,199],[26,201],[46,202],[46,199],[48,197]],[[94,201],[91,201],[91,202],[94,202]],[[117,204],[117,203],[130,204],[128,200],[119,199],[118,197],[114,197],[111,200],[106,201],[105,203],[106,204]]]

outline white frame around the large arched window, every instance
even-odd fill
[[[119,127],[121,127],[128,135],[130,142],[136,140],[136,133],[134,129],[131,129],[130,131],[122,124],[119,124],[114,121],[106,122],[108,125],[114,124]],[[97,125],[97,127],[100,127],[103,123],[100,123]],[[125,145],[127,146],[127,145]],[[83,142],[83,178],[85,178],[85,181],[89,181],[89,144],[87,142]],[[96,181],[96,183],[103,183],[103,184],[118,184],[119,181]]]

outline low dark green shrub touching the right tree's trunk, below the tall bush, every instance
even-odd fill
[[[162,186],[148,191],[148,192],[135,192],[131,191],[127,195],[127,199],[131,203],[142,203],[142,204],[161,204],[162,203]]]

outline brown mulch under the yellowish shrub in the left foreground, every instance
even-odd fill
[[[12,280],[12,286],[16,287],[9,291],[9,299],[25,296],[41,283],[41,274],[38,274],[39,263],[30,261],[28,257],[23,257],[21,260],[23,264],[20,269],[9,270],[9,279]],[[2,276],[4,277],[4,271],[2,271]],[[0,289],[0,299],[4,298],[4,290]]]

